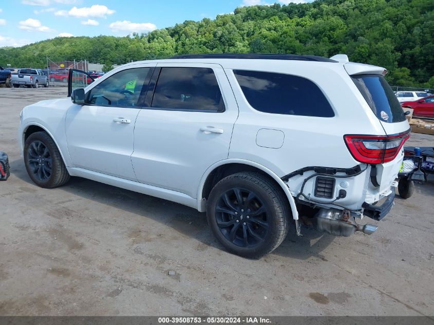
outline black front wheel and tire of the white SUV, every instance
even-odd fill
[[[44,188],[61,186],[70,178],[58,147],[46,132],[32,133],[26,139],[24,164],[31,180]]]

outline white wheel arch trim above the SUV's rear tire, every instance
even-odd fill
[[[243,159],[221,160],[206,169],[199,183],[197,193],[198,211],[206,211],[207,197],[210,194],[213,186],[218,181],[231,174],[239,173],[240,171],[256,171],[262,175],[266,175],[271,178],[284,191],[288,199],[288,203],[291,207],[292,218],[294,220],[298,220],[298,212],[295,205],[295,200],[292,197],[291,192],[285,182],[282,181],[275,173],[273,173],[273,171],[271,171],[267,167],[264,167],[253,161]]]

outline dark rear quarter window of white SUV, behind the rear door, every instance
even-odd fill
[[[296,75],[234,70],[250,106],[261,112],[331,118],[333,109],[312,81]]]

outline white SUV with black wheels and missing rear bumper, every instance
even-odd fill
[[[385,72],[346,55],[182,55],[72,89],[88,77],[70,70],[70,99],[20,114],[25,165],[42,187],[79,176],[206,212],[224,247],[249,258],[291,223],[371,234],[355,220],[393,206],[409,137]]]

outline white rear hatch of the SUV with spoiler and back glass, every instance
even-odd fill
[[[398,176],[403,158],[402,146],[408,139],[410,126],[398,99],[384,79],[387,72],[384,68],[352,62],[344,64],[344,67],[385,131],[385,139],[367,139],[364,143],[368,149],[384,146],[383,157],[372,160],[378,184],[372,184],[375,183],[373,180],[370,192],[387,195]]]

